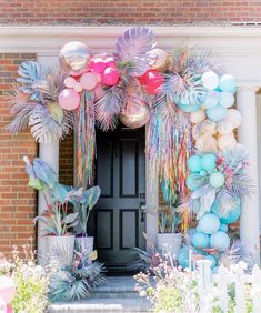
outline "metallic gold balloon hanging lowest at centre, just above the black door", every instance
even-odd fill
[[[142,103],[133,112],[122,112],[120,114],[120,121],[130,129],[139,129],[148,123],[150,120],[150,107]]]

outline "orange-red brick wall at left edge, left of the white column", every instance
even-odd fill
[[[10,135],[3,127],[10,121],[8,94],[17,75],[18,64],[36,59],[34,54],[0,53],[0,252],[8,253],[12,245],[19,248],[32,238],[31,224],[36,215],[36,192],[27,186],[23,155],[33,158],[37,144],[29,132]]]

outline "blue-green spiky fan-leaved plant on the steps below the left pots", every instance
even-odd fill
[[[92,287],[106,282],[103,264],[91,262],[97,259],[97,252],[86,253],[80,245],[76,246],[74,260],[70,266],[60,269],[50,281],[50,301],[72,302],[90,296]]]

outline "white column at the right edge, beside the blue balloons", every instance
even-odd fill
[[[258,195],[258,137],[257,137],[257,99],[255,85],[242,85],[237,90],[237,105],[242,114],[242,123],[239,128],[239,142],[247,145],[250,166],[248,173],[252,178],[257,192],[251,199],[245,199],[240,216],[241,241],[253,251],[255,260],[260,263],[259,240],[259,195]]]

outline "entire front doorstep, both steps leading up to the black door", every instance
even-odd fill
[[[150,302],[134,290],[132,276],[109,276],[108,282],[96,287],[91,296],[73,303],[52,304],[48,313],[66,312],[149,312]]]

